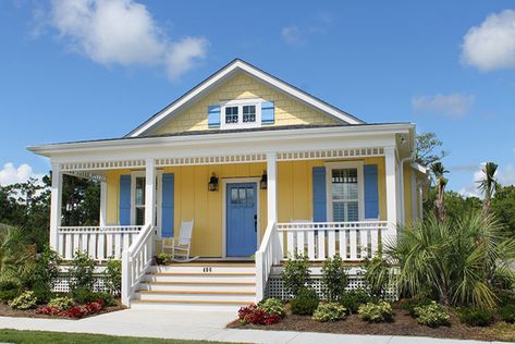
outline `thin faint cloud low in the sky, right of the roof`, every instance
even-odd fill
[[[415,112],[444,114],[452,118],[463,118],[474,106],[473,95],[452,94],[436,96],[416,96],[412,98]]]

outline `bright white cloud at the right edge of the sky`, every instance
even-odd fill
[[[463,38],[462,62],[485,72],[515,67],[515,11],[492,13],[473,26]]]

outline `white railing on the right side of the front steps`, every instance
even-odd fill
[[[256,298],[257,302],[265,297],[265,290],[267,287],[268,277],[273,263],[278,261],[278,246],[277,245],[277,224],[275,222],[268,223],[267,230],[261,241],[259,249],[256,251]],[[280,254],[282,255],[282,253]]]

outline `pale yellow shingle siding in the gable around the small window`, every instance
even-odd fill
[[[336,120],[317,111],[279,90],[275,90],[247,74],[240,72],[225,84],[209,93],[189,109],[158,127],[152,134],[171,134],[188,131],[207,131],[207,109],[222,100],[262,98],[275,105],[275,123],[292,124],[335,124]],[[223,115],[222,119],[223,120]],[[265,124],[266,125],[266,124]]]

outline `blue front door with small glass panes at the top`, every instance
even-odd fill
[[[231,183],[226,193],[226,256],[249,257],[257,250],[256,183]]]

